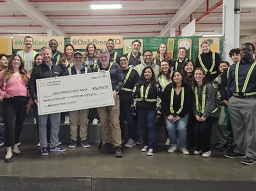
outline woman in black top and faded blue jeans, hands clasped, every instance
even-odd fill
[[[173,83],[167,85],[164,90],[163,108],[166,128],[171,142],[171,148],[168,152],[172,153],[179,148],[184,155],[189,155],[186,149],[187,141],[187,124],[189,120],[189,111],[191,108],[191,88],[187,87],[184,77],[179,71],[172,74]]]

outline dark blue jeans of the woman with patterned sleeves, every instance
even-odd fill
[[[145,146],[148,146],[149,149],[155,149],[155,146],[156,146],[156,136],[155,136],[156,112],[155,110],[137,108],[137,115],[138,115],[140,127],[142,128]]]

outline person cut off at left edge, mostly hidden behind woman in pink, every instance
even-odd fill
[[[7,68],[7,55],[0,54],[0,71]],[[3,98],[0,96],[0,147],[4,146],[4,116],[3,116]]]

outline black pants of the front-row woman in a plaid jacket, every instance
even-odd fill
[[[208,117],[204,122],[195,120],[194,132],[197,151],[207,152],[210,150],[211,128],[217,119],[215,117]]]

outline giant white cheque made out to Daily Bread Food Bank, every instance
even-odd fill
[[[38,114],[113,106],[109,71],[37,80]]]

